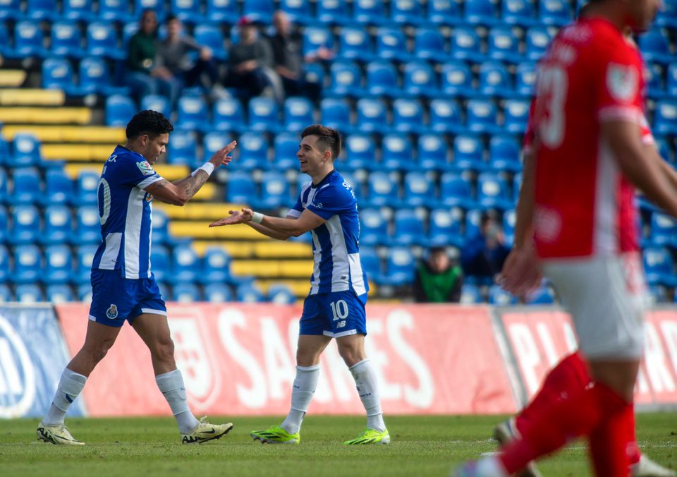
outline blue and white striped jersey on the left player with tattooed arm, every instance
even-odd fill
[[[92,270],[120,270],[123,278],[150,278],[153,196],[143,188],[161,179],[138,152],[120,145],[115,148],[99,181],[102,242]]]

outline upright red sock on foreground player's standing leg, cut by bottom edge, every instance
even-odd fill
[[[633,416],[633,405],[626,404],[620,412],[603,419],[590,433],[590,454],[595,475],[628,477],[628,425],[634,425]]]

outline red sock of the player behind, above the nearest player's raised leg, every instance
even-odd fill
[[[580,353],[570,354],[555,366],[543,380],[539,392],[530,403],[515,417],[515,424],[520,433],[544,409],[548,409],[554,402],[566,399],[577,394],[590,384],[592,378],[587,370],[587,364]]]

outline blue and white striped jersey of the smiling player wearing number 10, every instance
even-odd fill
[[[353,289],[362,295],[369,290],[367,275],[360,262],[360,220],[353,188],[337,171],[322,182],[307,183],[288,215],[299,217],[303,210],[313,212],[327,222],[310,231],[315,259],[310,294]]]

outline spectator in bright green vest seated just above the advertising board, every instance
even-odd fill
[[[417,269],[413,295],[417,303],[458,303],[461,301],[463,272],[453,263],[444,247],[429,250],[427,260]]]

